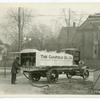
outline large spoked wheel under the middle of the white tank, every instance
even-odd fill
[[[58,80],[58,72],[56,70],[49,70],[47,72],[47,80],[49,83],[54,83]]]

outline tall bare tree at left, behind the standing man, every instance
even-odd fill
[[[3,33],[7,40],[12,44],[16,44],[16,50],[18,50],[19,42],[23,40],[23,34],[28,30],[28,26],[31,22],[31,10],[24,8],[9,9],[6,20],[7,22],[2,26]]]

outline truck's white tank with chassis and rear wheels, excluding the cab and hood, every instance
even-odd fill
[[[20,59],[24,75],[33,81],[47,77],[48,82],[53,83],[58,80],[59,74],[65,73],[71,78],[70,73],[79,70],[79,66],[74,64],[73,55],[64,52],[24,49],[20,52]]]

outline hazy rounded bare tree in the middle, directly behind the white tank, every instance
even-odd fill
[[[35,24],[31,26],[31,29],[28,34],[28,37],[31,37],[31,47],[40,50],[46,49],[45,44],[52,37],[50,27],[45,24]]]

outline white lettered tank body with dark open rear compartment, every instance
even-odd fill
[[[21,51],[21,65],[33,67],[72,66],[73,56],[64,52],[47,52],[35,49]]]

